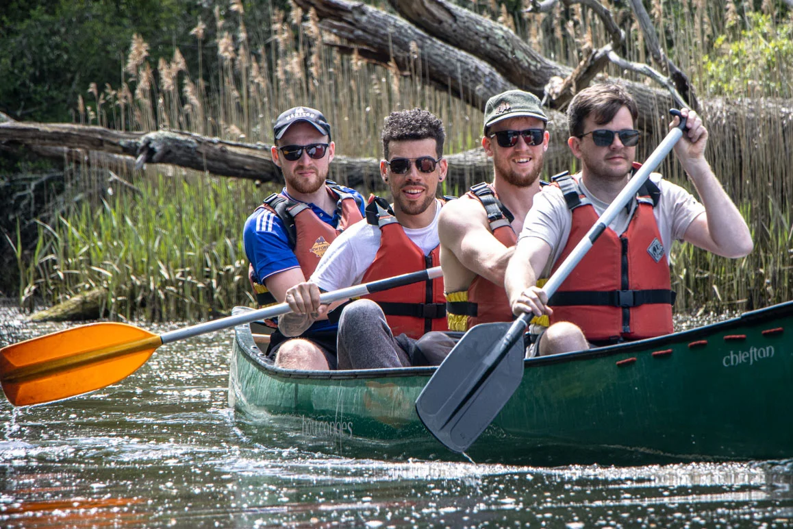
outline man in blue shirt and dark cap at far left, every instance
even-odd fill
[[[270,153],[285,186],[248,217],[243,231],[251,284],[262,306],[282,303],[289,287],[312,274],[339,232],[363,218],[361,195],[325,180],[335,144],[320,111],[287,110],[278,116],[274,136]],[[267,354],[285,368],[328,369],[335,365],[336,331],[327,317],[301,339],[287,340],[276,330]]]

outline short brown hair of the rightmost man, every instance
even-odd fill
[[[633,96],[622,86],[604,83],[584,88],[576,94],[567,108],[570,136],[579,137],[584,134],[584,119],[590,114],[595,118],[596,124],[604,125],[613,120],[623,106],[630,111],[635,126],[639,109]]]

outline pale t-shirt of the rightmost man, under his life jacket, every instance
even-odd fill
[[[592,201],[598,216],[602,215],[608,204],[592,196],[580,182],[580,174],[574,174],[573,178],[578,182],[584,195]],[[661,198],[653,208],[653,214],[658,231],[661,232],[661,244],[664,245],[668,262],[672,242],[683,239],[688,226],[705,212],[705,207],[687,190],[661,178],[661,174],[652,173],[649,178],[661,190]],[[628,228],[636,204],[636,200],[631,201],[629,207],[622,209],[608,227],[618,235],[622,235]],[[545,186],[542,188],[542,193],[534,196],[534,202],[523,222],[519,240],[523,237],[538,237],[548,243],[551,247],[551,259],[544,270],[546,274],[567,244],[572,221],[573,213],[567,207],[565,196],[557,186]]]

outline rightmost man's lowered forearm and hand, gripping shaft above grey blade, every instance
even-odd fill
[[[538,237],[524,237],[518,241],[504,277],[504,288],[515,315],[533,312],[534,316],[542,316],[554,312],[546,306],[548,297],[537,286],[537,278],[548,262],[550,251],[549,244]]]

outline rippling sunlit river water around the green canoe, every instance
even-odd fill
[[[4,309],[0,345],[63,327]],[[793,524],[791,462],[549,469],[307,450],[271,424],[235,420],[231,339],[160,347],[119,384],[68,401],[3,401],[0,527]]]

